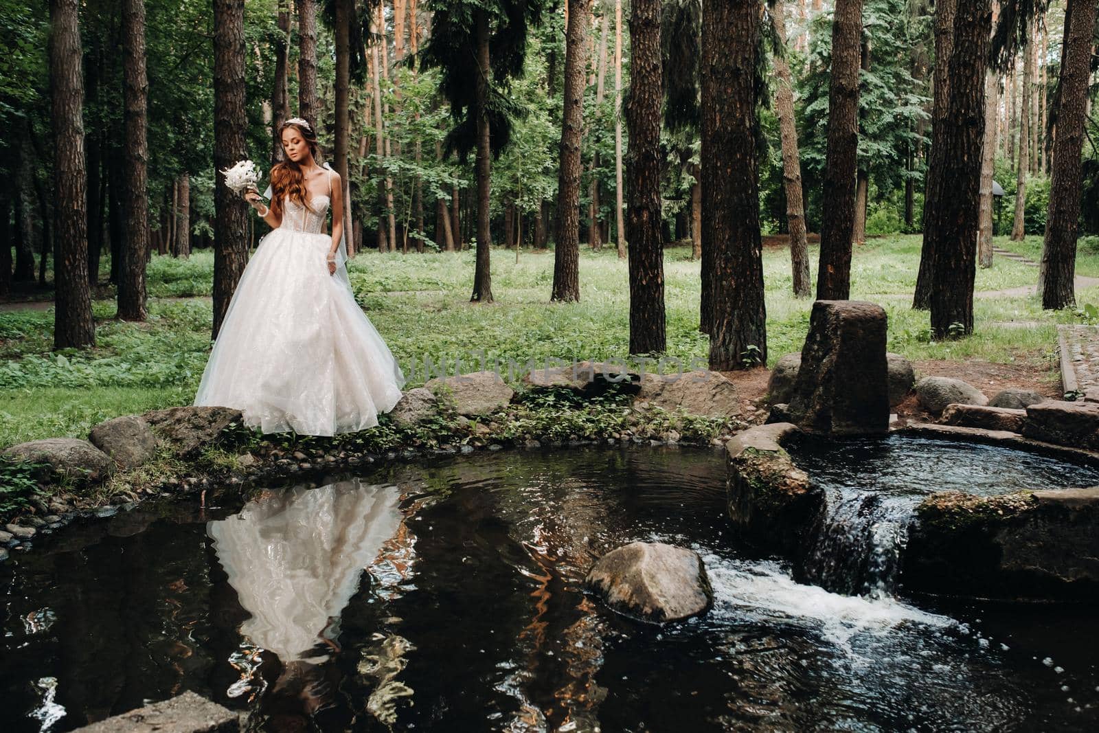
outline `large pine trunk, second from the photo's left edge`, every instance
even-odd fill
[[[145,255],[148,251],[148,78],[145,74],[145,2],[122,0],[123,98],[125,102],[126,240],[119,278],[119,318],[144,321]]]

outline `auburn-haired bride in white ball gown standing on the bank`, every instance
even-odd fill
[[[271,231],[236,285],[195,404],[236,408],[265,433],[373,427],[401,399],[404,375],[355,302],[340,175],[317,165],[306,120],[280,134],[287,159],[271,168],[270,208],[254,189],[245,197]]]

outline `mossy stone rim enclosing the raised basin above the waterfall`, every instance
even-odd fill
[[[751,427],[725,445],[729,514],[748,544],[806,559],[824,495],[782,447],[790,423]],[[940,424],[892,434],[970,441],[1099,465],[1099,452],[1018,433]],[[837,438],[842,440],[842,438]],[[906,592],[1003,600],[1099,601],[1099,487],[926,497],[902,551]]]

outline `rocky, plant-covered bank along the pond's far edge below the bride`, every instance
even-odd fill
[[[259,435],[244,426],[240,410],[178,407],[104,421],[88,440],[14,445],[0,459],[37,493],[24,510],[0,517],[0,562],[9,551],[29,549],[40,533],[154,497],[243,490],[476,449],[720,446],[745,420],[764,414],[718,373],[622,369],[585,362],[534,370],[518,390],[492,371],[432,379],[408,390],[377,427],[335,438]]]

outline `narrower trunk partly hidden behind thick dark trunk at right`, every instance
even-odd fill
[[[934,265],[935,253],[928,237],[928,222],[934,214],[940,201],[936,198],[941,187],[939,180],[943,174],[943,138],[947,104],[951,93],[950,63],[954,52],[954,16],[957,12],[957,0],[935,1],[935,76],[934,101],[931,112],[931,155],[928,160],[928,175],[923,189],[923,246],[920,252],[920,270],[915,278],[915,295],[912,308],[926,309],[931,304],[931,268]]]

